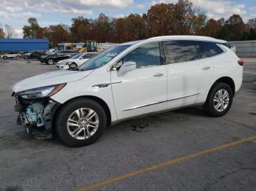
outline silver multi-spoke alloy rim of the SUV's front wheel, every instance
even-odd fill
[[[89,139],[99,127],[99,116],[93,109],[80,108],[67,120],[67,130],[74,139]]]

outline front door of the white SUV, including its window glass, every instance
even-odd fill
[[[159,42],[141,45],[113,66],[111,83],[118,119],[166,109],[167,70]],[[118,75],[121,64],[136,63],[136,69]]]

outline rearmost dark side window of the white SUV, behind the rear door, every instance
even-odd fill
[[[195,42],[200,58],[208,58],[223,52],[222,48],[214,42]]]

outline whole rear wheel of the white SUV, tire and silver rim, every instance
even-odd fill
[[[203,109],[212,117],[221,117],[229,111],[233,103],[231,87],[225,83],[217,82],[211,88]]]

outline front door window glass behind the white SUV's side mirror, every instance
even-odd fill
[[[122,59],[122,63],[128,61],[135,62],[137,69],[159,66],[161,64],[159,42],[144,44],[132,50]]]

